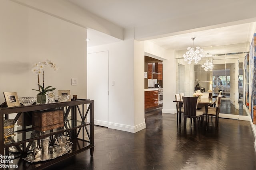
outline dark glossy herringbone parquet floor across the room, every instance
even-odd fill
[[[128,133],[95,126],[94,156],[86,150],[55,170],[256,170],[249,121],[214,121],[208,131],[186,128],[162,108],[145,113],[146,129]]]

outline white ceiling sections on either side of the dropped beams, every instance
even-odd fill
[[[235,4],[242,6],[244,1],[215,0],[202,2],[200,0],[69,0],[70,2],[96,14],[123,28],[140,27],[167,21],[174,18],[190,17],[195,13],[212,13],[214,10],[229,9]],[[251,1],[251,0],[248,0]],[[254,2],[254,1],[253,1]],[[255,3],[255,2],[254,2]],[[186,5],[184,5],[186,4]],[[220,5],[221,4],[221,5]],[[244,8],[241,10],[245,10]],[[235,14],[235,13],[234,13]],[[232,14],[233,15],[233,14]],[[254,20],[256,21],[256,20]],[[148,28],[150,29],[150,27]],[[193,45],[191,37],[196,37],[194,46],[211,47],[237,43],[250,43],[256,29],[256,22],[242,23],[202,31],[187,31],[188,33],[151,39],[157,45],[170,50],[184,50]],[[88,29],[88,47],[120,41],[114,37]]]

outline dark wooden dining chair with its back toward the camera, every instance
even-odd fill
[[[201,110],[197,110],[197,100],[198,97],[182,97],[183,106],[184,106],[184,127],[186,127],[187,117],[190,118],[190,122],[192,119],[194,120],[195,127],[197,121],[202,124],[204,118],[204,112]],[[193,123],[191,123],[193,125]]]

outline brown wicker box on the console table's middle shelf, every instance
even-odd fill
[[[64,127],[64,111],[61,109],[33,111],[32,127],[41,132]]]

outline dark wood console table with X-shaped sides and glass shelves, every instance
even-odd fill
[[[3,122],[9,118],[10,113],[16,113],[14,119],[17,122],[20,115],[29,111],[39,111],[44,109],[63,109],[64,127],[45,131],[44,133],[35,131],[32,126],[15,125],[13,137],[8,137],[8,142],[4,142]],[[89,114],[88,114],[89,113]],[[90,115],[90,122],[86,122],[86,117]],[[52,104],[35,104],[30,106],[0,107],[0,155],[14,155],[15,159],[11,164],[18,165],[17,170],[37,170],[43,169],[69,158],[75,154],[90,149],[90,154],[94,152],[94,101],[78,99],[70,102],[56,102]],[[31,135],[37,134],[37,135]],[[69,135],[73,143],[72,149],[67,154],[52,160],[29,163],[23,160],[26,155],[32,152],[30,146],[33,141],[40,141],[41,138],[51,137],[58,139],[59,135]],[[53,141],[51,142],[54,143]],[[17,152],[9,152],[9,147],[15,147]],[[6,168],[8,169],[8,168]]]

